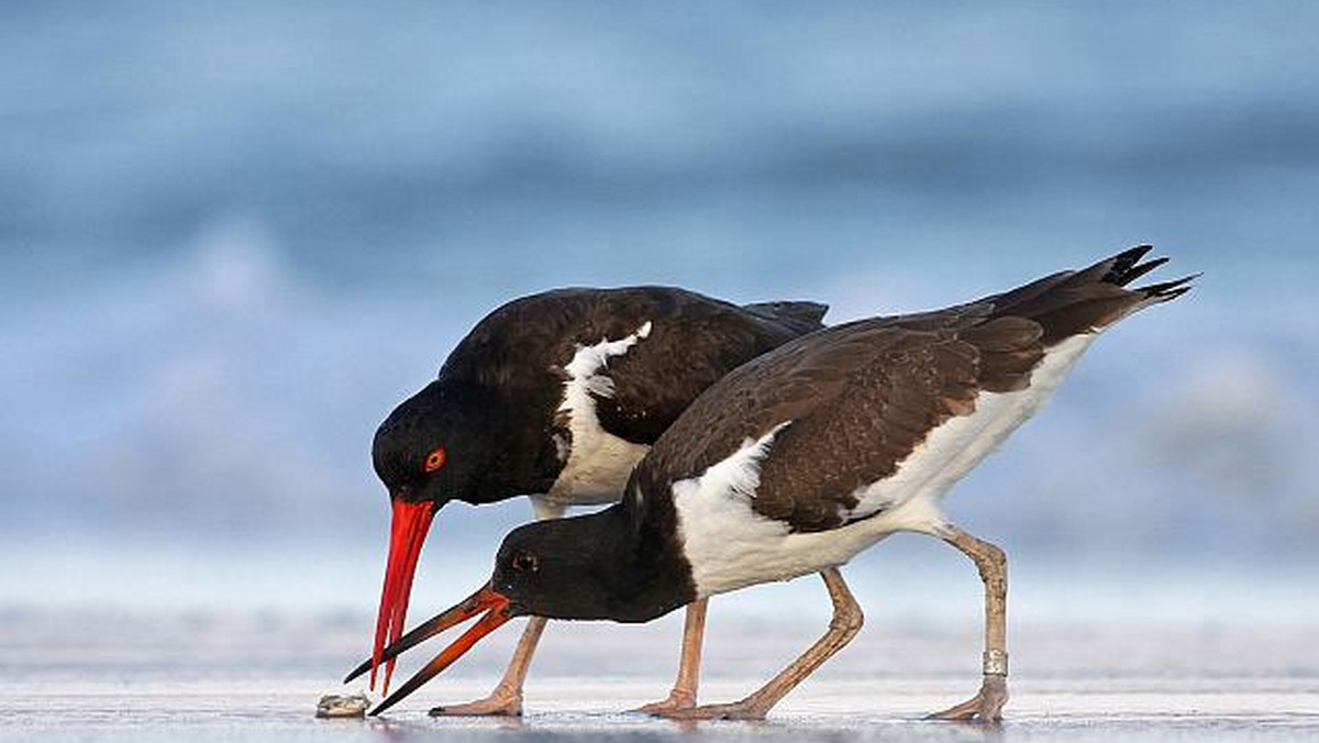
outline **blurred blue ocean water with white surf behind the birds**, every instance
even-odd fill
[[[7,3],[5,647],[154,614],[301,627],[286,656],[331,628],[346,669],[385,557],[372,433],[513,297],[844,321],[1137,243],[1198,289],[1096,343],[950,511],[1008,549],[1014,627],[1315,628],[1316,30],[1302,0]],[[529,515],[448,507],[413,616]],[[848,573],[868,632],[979,622],[933,540]],[[818,624],[816,583],[712,622]]]

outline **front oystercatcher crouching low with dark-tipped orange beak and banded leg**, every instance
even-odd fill
[[[980,692],[931,717],[1000,719],[1006,561],[939,501],[1049,400],[1100,333],[1190,289],[1194,276],[1126,289],[1166,263],[1141,263],[1149,249],[940,311],[820,330],[739,367],[656,442],[619,504],[509,533],[491,582],[415,640],[481,619],[372,714],[513,616],[649,622],[715,594],[819,573],[834,604],[819,641],[741,701],[666,713],[762,718],[860,630],[839,566],[909,531],[966,553],[985,589]]]

